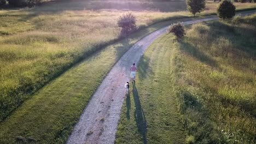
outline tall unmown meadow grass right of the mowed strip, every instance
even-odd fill
[[[174,74],[186,140],[256,143],[256,15],[187,28]]]

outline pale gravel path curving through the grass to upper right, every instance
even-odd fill
[[[242,15],[250,14],[255,13]],[[217,17],[211,17],[183,23],[190,25],[217,19]],[[133,62],[139,61],[144,51],[155,39],[166,33],[166,28],[161,28],[139,40],[119,59],[92,96],[67,143],[114,143],[120,110],[124,101],[124,84],[129,81],[130,66]]]

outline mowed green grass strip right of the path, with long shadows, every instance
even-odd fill
[[[172,35],[165,34],[138,63],[136,85],[126,95],[115,143],[184,143],[185,130],[173,87]]]

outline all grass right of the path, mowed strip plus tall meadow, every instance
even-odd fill
[[[205,22],[187,27],[182,41],[172,34],[156,40],[139,63],[137,93],[126,97],[116,143],[256,143],[255,23],[256,15]],[[183,142],[168,134],[177,110]]]

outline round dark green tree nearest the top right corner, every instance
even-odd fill
[[[235,5],[228,0],[220,2],[219,7],[217,8],[217,15],[220,19],[231,19],[236,14]]]

